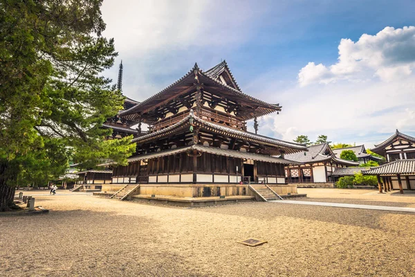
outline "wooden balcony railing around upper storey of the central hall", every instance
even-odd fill
[[[179,121],[183,120],[186,116],[189,115],[189,110],[182,111],[174,116],[170,116],[169,118],[165,118],[160,120],[160,122],[154,124],[149,130],[149,132],[156,132],[160,129],[164,129],[165,127],[169,127],[178,123]],[[234,116],[225,116],[219,114],[218,111],[208,111],[206,109],[201,109],[201,114],[198,115],[196,111],[194,111],[195,116],[199,116],[203,120],[212,121],[219,125],[224,125],[226,127],[231,127],[234,129],[244,129],[245,124],[243,121],[238,120]]]

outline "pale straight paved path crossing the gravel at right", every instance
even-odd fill
[[[343,204],[343,203],[330,203],[330,202],[308,202],[308,201],[297,201],[297,200],[273,200],[270,202],[281,203],[281,204],[329,206],[329,207],[339,207],[339,208],[362,208],[365,210],[415,213],[415,208],[402,208],[402,207],[391,207],[391,206],[358,205],[358,204]]]

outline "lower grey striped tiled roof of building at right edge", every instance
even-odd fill
[[[364,175],[415,175],[415,159],[397,160],[370,170],[362,171]]]

